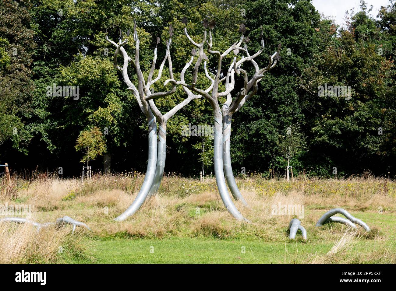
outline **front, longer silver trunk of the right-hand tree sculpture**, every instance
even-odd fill
[[[215,135],[214,135],[214,155],[213,161],[215,164],[215,177],[217,188],[219,188],[219,193],[221,200],[228,212],[232,214],[236,219],[250,222],[242,214],[236,209],[234,203],[231,200],[230,195],[228,194],[227,186],[225,184],[224,170],[223,170],[223,114],[219,107],[213,107],[213,116],[215,118]]]

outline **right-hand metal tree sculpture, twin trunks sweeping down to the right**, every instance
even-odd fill
[[[232,174],[232,168],[231,168],[231,161],[230,161],[230,130],[231,130],[231,119],[232,119],[232,114],[236,112],[242,105],[250,99],[256,92],[257,92],[257,83],[263,78],[263,73],[270,70],[276,65],[276,61],[273,62],[273,59],[276,57],[278,58],[278,53],[275,52],[271,57],[270,57],[270,63],[266,68],[259,69],[257,63],[253,60],[257,55],[259,55],[263,49],[264,49],[264,44],[262,41],[262,46],[263,48],[255,53],[253,56],[250,56],[249,53],[247,52],[247,48],[245,45],[245,48],[241,47],[241,44],[243,41],[247,42],[249,39],[245,38],[244,34],[246,32],[246,27],[245,25],[240,26],[240,32],[242,34],[239,42],[235,42],[230,48],[228,48],[224,53],[220,53],[219,51],[214,51],[212,49],[213,46],[213,38],[212,38],[212,33],[209,30],[209,40],[206,41],[208,44],[208,53],[211,53],[213,55],[217,56],[217,70],[216,70],[216,75],[214,79],[214,85],[213,89],[211,91],[211,94],[203,91],[202,89],[199,89],[196,87],[196,81],[198,78],[198,68],[200,67],[200,64],[203,59],[206,59],[206,55],[204,52],[204,42],[207,37],[207,27],[209,26],[209,29],[213,29],[215,22],[214,20],[208,22],[207,20],[203,21],[204,27],[205,27],[205,32],[204,32],[204,40],[202,43],[198,44],[194,42],[191,37],[188,35],[187,28],[184,29],[184,33],[188,40],[199,50],[199,58],[194,66],[194,70],[192,73],[192,83],[191,85],[187,85],[184,80],[178,81],[177,84],[181,84],[185,88],[190,89],[191,91],[196,92],[197,94],[201,94],[204,96],[210,103],[212,109],[213,109],[213,118],[215,121],[215,136],[214,136],[214,154],[213,154],[213,160],[214,160],[214,165],[215,165],[215,177],[216,177],[216,183],[217,187],[219,189],[219,193],[221,196],[221,199],[223,200],[223,203],[227,210],[238,220],[242,221],[247,221],[246,218],[242,216],[242,214],[236,209],[234,203],[232,202],[230,196],[228,195],[228,190],[227,186],[225,183],[225,175],[224,172],[226,171],[227,175],[227,182],[228,186],[230,186],[230,189],[232,189],[232,194],[236,200],[242,200],[244,202],[244,199],[242,195],[240,194],[238,187],[236,186],[234,176]],[[243,57],[240,61],[236,62],[236,57],[234,57],[234,61],[230,65],[227,74],[225,77],[221,77],[221,69],[222,69],[222,61],[223,59],[230,53],[231,51],[234,51],[235,55],[238,55],[239,51],[245,51],[247,56]],[[256,73],[251,78],[250,81],[248,81],[247,77],[247,72],[245,70],[242,70],[239,66],[242,65],[245,61],[252,61],[253,65],[255,66]],[[234,89],[235,86],[235,78],[234,78],[234,73],[237,72],[238,74],[242,72],[244,74],[245,82],[244,82],[244,90],[241,90],[240,93],[238,93],[237,97],[232,101],[231,97],[231,91]],[[225,81],[225,91],[224,92],[219,92],[219,84],[221,82]],[[253,88],[253,89],[252,89]],[[252,91],[248,93],[250,90]],[[220,109],[218,98],[219,97],[226,97],[227,96],[227,101],[225,105],[223,105],[223,111]],[[223,132],[223,128],[225,131]],[[222,151],[224,149],[224,156],[222,154]],[[224,159],[224,160],[223,160]],[[224,168],[223,168],[224,167]],[[246,204],[246,202],[244,202]]]

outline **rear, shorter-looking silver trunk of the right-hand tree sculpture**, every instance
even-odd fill
[[[223,120],[223,167],[225,178],[227,180],[228,188],[230,188],[231,194],[235,200],[242,201],[245,206],[248,206],[245,199],[243,198],[239,188],[236,184],[234,174],[232,173],[231,166],[231,154],[230,154],[230,146],[231,146],[231,121],[232,115],[228,114],[224,116]]]

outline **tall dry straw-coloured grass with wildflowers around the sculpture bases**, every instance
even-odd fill
[[[301,218],[311,241],[334,242],[338,254],[348,253],[350,239],[342,225],[314,227],[317,219],[328,209],[343,207],[348,211],[378,213],[396,212],[396,192],[393,181],[384,179],[310,179],[287,183],[279,179],[248,177],[237,179],[241,192],[250,205],[236,206],[251,224],[234,220],[225,209],[217,193],[215,179],[197,179],[178,175],[164,177],[160,191],[149,198],[131,219],[114,222],[135,199],[144,176],[139,173],[119,175],[94,175],[91,180],[43,177],[32,180],[14,179],[17,197],[0,195],[0,204],[31,204],[39,222],[55,221],[68,215],[87,223],[99,237],[120,236],[128,238],[165,238],[171,236],[204,237],[219,239],[254,239],[267,242],[289,242],[287,226],[296,217],[273,215],[273,205],[304,205]],[[367,222],[368,223],[368,222]],[[371,225],[370,225],[371,226]],[[328,228],[326,228],[328,227]],[[30,225],[0,225],[0,253],[2,262],[62,260],[57,255],[60,245],[69,245],[70,254],[84,257],[85,236],[72,236],[69,229],[52,231],[43,229],[36,233]],[[386,251],[384,236],[364,237],[358,240],[376,240],[377,251],[394,260],[391,249]],[[16,246],[13,248],[12,246]],[[44,247],[46,246],[46,247]],[[11,250],[12,249],[12,250]],[[8,255],[6,255],[8,253]],[[331,261],[335,255],[316,258]],[[26,259],[17,259],[26,258]],[[393,259],[392,259],[393,258]],[[344,256],[345,259],[345,256]],[[371,258],[372,259],[372,258]],[[346,260],[346,259],[345,259]],[[349,258],[348,260],[352,260]]]

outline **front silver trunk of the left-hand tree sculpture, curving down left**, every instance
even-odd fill
[[[157,164],[157,124],[155,118],[153,117],[148,122],[148,162],[147,162],[147,171],[146,176],[143,181],[143,184],[140,188],[139,193],[137,194],[135,200],[133,200],[132,204],[118,217],[114,220],[123,221],[127,219],[129,216],[133,215],[145,202],[148,193],[152,187],[156,164]]]

